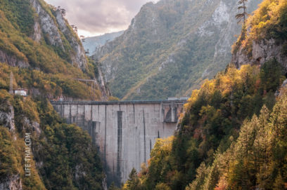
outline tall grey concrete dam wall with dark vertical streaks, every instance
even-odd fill
[[[108,183],[120,184],[132,168],[150,158],[160,137],[177,128],[186,100],[126,102],[51,102],[67,123],[75,123],[91,135],[103,161]]]

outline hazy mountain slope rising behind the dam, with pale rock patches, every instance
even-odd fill
[[[251,13],[260,0],[251,0]],[[236,0],[162,0],[141,8],[129,28],[95,57],[113,95],[164,99],[189,95],[224,69],[240,33]],[[139,90],[141,89],[141,90]]]

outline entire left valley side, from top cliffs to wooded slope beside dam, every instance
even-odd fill
[[[0,189],[105,189],[91,138],[49,102],[109,97],[64,15],[42,0],[0,1]]]

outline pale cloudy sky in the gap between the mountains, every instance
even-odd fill
[[[46,0],[53,6],[65,8],[70,25],[79,35],[96,36],[127,29],[141,6],[158,0]]]

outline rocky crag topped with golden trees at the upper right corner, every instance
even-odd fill
[[[275,58],[287,71],[286,1],[264,1],[248,18],[246,28],[233,46],[231,62],[262,65]]]

